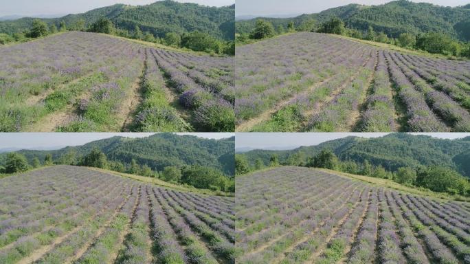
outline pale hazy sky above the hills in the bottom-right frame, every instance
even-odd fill
[[[259,149],[279,149],[297,148],[298,146],[313,146],[347,137],[349,135],[357,137],[381,137],[388,133],[236,133],[236,148],[259,148]],[[462,138],[470,133],[412,133],[414,135],[431,135],[440,138]]]

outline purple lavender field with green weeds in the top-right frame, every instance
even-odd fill
[[[236,131],[470,131],[470,61],[302,32],[236,48]]]

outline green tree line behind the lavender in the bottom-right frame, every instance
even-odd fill
[[[381,179],[391,179],[405,186],[424,188],[434,192],[445,192],[449,195],[462,195],[470,197],[470,181],[457,171],[445,166],[403,166],[395,171],[386,170],[383,166],[374,166],[367,159],[362,163],[341,161],[331,151],[324,148],[320,153],[309,157],[306,161],[291,155],[284,162],[280,162],[278,155],[271,155],[269,164],[265,165],[262,159],[256,159],[251,166],[243,154],[235,156],[235,174],[245,175],[251,171],[261,170],[273,166],[305,166],[313,168],[328,168],[343,173],[364,175]]]

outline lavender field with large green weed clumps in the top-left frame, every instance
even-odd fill
[[[67,32],[0,47],[0,131],[234,131],[233,58]]]

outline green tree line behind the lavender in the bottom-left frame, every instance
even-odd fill
[[[27,162],[24,155],[20,153],[8,153],[5,166],[0,166],[0,174],[10,175],[22,173],[32,168],[52,165],[74,165],[104,168],[120,173],[129,173],[144,177],[153,177],[173,184],[183,184],[195,188],[209,189],[214,191],[234,192],[235,182],[233,177],[227,177],[223,173],[209,166],[185,165],[166,166],[163,170],[152,170],[147,164],[138,164],[135,159],[131,159],[129,164],[110,161],[100,148],[93,148],[87,155],[78,157],[76,151],[68,151],[56,160],[50,153],[47,153],[41,161],[38,157],[32,159],[32,164]]]

